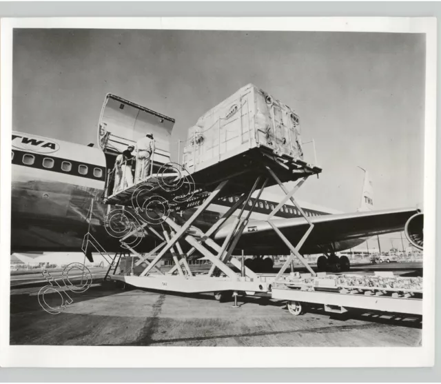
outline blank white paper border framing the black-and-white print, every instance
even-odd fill
[[[13,28],[278,30],[426,34],[424,300],[421,347],[87,347],[9,345]],[[83,17],[1,20],[0,365],[2,367],[430,367],[435,343],[435,18]],[[123,348],[123,350],[116,350]],[[289,350],[288,350],[289,349]],[[123,352],[121,354],[120,352]],[[264,352],[264,353],[262,353]],[[291,352],[291,353],[290,353]],[[124,356],[124,358],[121,358]]]

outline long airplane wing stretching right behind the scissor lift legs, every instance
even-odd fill
[[[404,230],[407,221],[419,213],[416,208],[327,214],[309,220],[314,229],[300,249],[304,254],[338,252],[364,242],[370,236]],[[305,218],[274,219],[276,227],[296,246],[309,228]],[[225,225],[215,236],[223,241],[232,224]],[[235,254],[288,254],[288,247],[278,237],[267,221],[249,221],[236,245]]]

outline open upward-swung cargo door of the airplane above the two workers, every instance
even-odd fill
[[[147,133],[154,136],[154,163],[170,162],[170,138],[174,119],[132,103],[114,94],[107,94],[101,110],[98,143],[106,159],[135,145]],[[110,156],[109,156],[110,155]],[[113,157],[112,156],[112,157]],[[107,164],[107,167],[110,164]]]

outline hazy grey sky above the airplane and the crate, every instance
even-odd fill
[[[376,209],[423,203],[424,34],[15,30],[13,60],[14,130],[96,143],[111,92],[176,119],[177,142],[254,83],[295,110],[302,140],[315,141],[323,171],[300,200],[356,210],[361,166]],[[314,159],[311,144],[305,156]]]

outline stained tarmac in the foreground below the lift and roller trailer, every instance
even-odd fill
[[[357,265],[353,271],[393,270],[421,275],[421,263]],[[418,346],[420,319],[363,312],[329,316],[311,308],[289,314],[281,302],[240,298],[239,308],[218,303],[211,294],[183,296],[121,291],[112,282],[70,294],[74,303],[61,314],[39,305],[39,287],[11,291],[12,345],[247,345],[247,346]],[[45,296],[59,305],[57,293]]]

